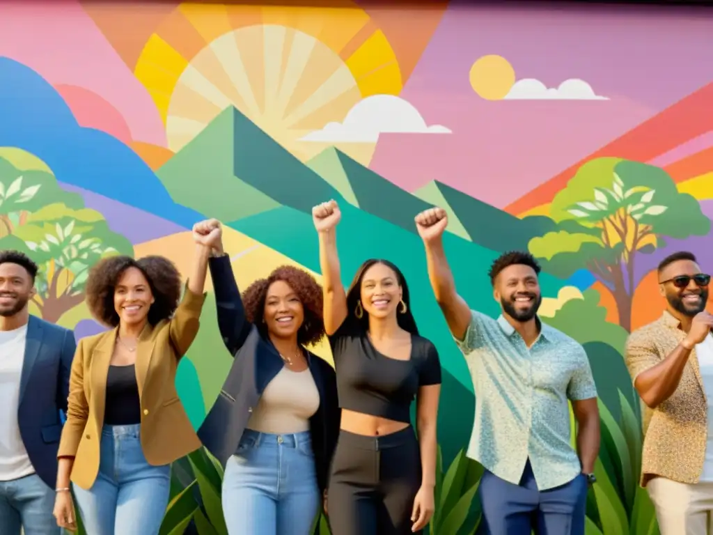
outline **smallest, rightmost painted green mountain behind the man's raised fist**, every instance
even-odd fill
[[[445,201],[446,204],[440,206],[448,212],[448,230],[461,237],[464,237],[464,232],[468,235],[466,239],[473,243],[501,253],[511,250],[526,251],[530,239],[555,229],[555,223],[550,218],[516,218],[438,180],[425,185],[417,194],[436,205],[439,205],[438,196]],[[458,225],[453,229],[450,228],[451,215],[455,215],[456,220],[453,223]],[[459,228],[463,230],[458,232]]]

